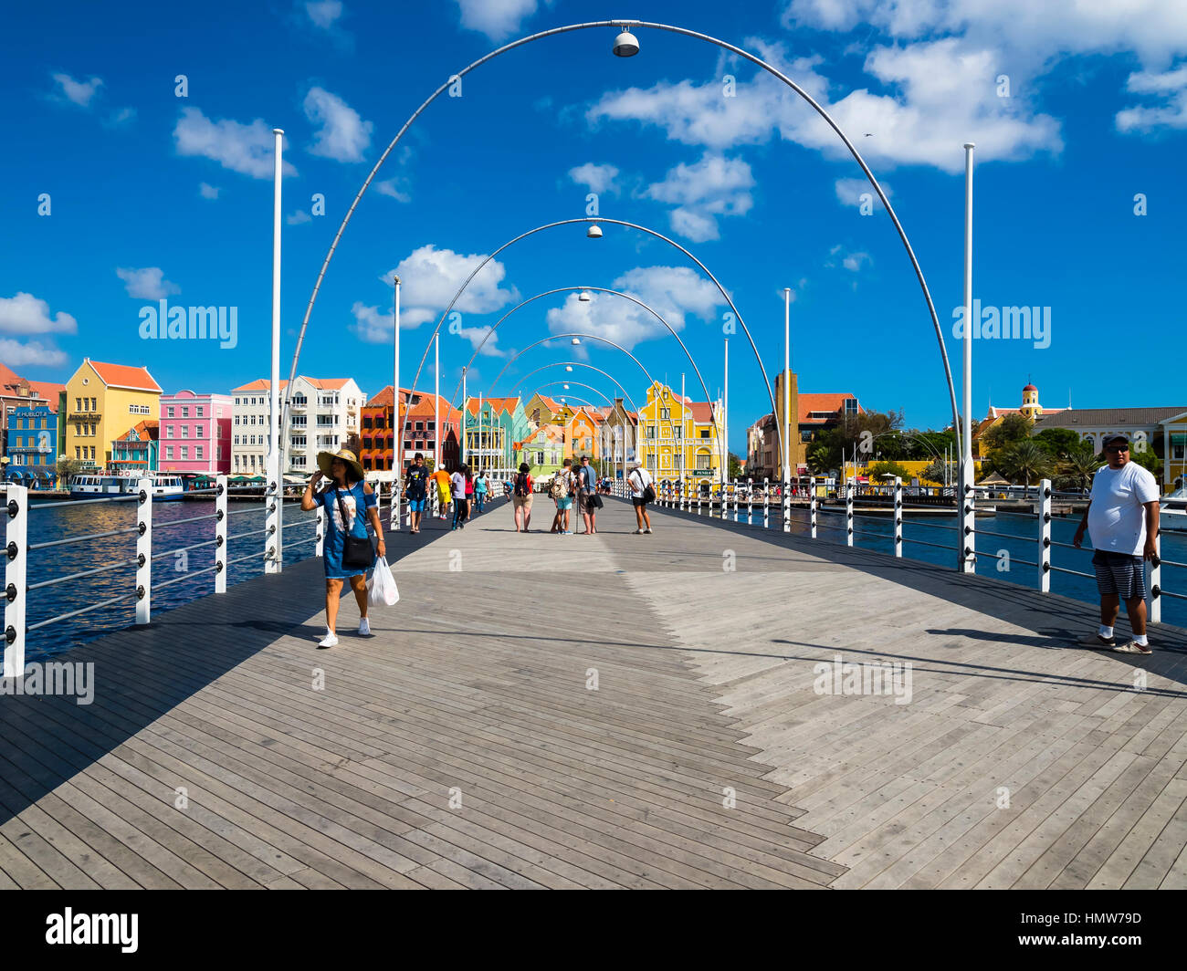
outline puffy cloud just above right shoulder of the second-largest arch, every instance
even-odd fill
[[[680,163],[664,182],[645,192],[656,202],[675,203],[672,229],[693,242],[716,240],[717,216],[744,216],[754,205],[754,174],[742,159],[706,153],[692,165]]]

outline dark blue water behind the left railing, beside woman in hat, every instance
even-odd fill
[[[264,571],[264,534],[234,539],[241,533],[254,533],[265,527],[264,499],[250,502],[228,502],[227,509],[229,518],[226,559],[233,560],[249,553],[260,553],[258,557],[227,567],[227,585],[230,586],[250,577],[258,577]],[[28,541],[31,544],[45,542],[83,533],[106,533],[134,528],[135,510],[135,502],[59,506],[52,509],[39,509],[38,503],[33,502],[28,514]],[[215,520],[212,519],[169,526],[170,522],[182,519],[212,515],[215,512],[214,500],[207,502],[158,502],[153,504],[152,512],[154,557],[158,553],[176,551],[179,547],[215,538]],[[300,541],[313,537],[316,531],[312,523],[316,521],[316,513],[303,513],[296,506],[285,507],[284,561],[286,564],[313,556],[316,544]],[[153,614],[180,607],[183,603],[214,592],[214,571],[196,572],[214,565],[214,551],[215,546],[211,542],[184,554],[153,559]],[[135,532],[83,540],[66,546],[53,546],[47,550],[34,550],[30,558],[28,583],[39,583],[121,560],[134,560],[135,556]],[[30,626],[100,601],[120,595],[125,596],[108,607],[31,630],[25,648],[26,661],[69,650],[80,643],[134,623],[135,575],[135,564],[128,563],[116,570],[96,573],[91,577],[31,590],[25,615],[26,623]],[[158,588],[158,584],[172,579],[179,579],[179,582]]]

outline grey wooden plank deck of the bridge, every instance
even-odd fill
[[[388,534],[331,650],[310,559],[56,658],[95,699],[0,702],[0,887],[1187,887],[1187,632],[652,518]]]

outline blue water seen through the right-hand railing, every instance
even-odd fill
[[[858,514],[863,515],[863,514]],[[734,520],[734,510],[726,514],[728,520]],[[916,515],[909,512],[903,514],[902,554],[904,558],[934,563],[938,566],[954,569],[956,565],[956,531],[954,515]],[[757,528],[762,528],[762,509],[755,506],[754,515],[747,518],[745,506],[738,504],[738,521],[750,522]],[[1080,522],[1080,516],[1068,519],[1053,519],[1050,523],[1052,544],[1066,542],[1071,545],[1075,527]],[[825,528],[825,527],[834,528]],[[839,528],[836,528],[839,527]],[[937,528],[942,527],[942,528]],[[780,521],[780,509],[773,504],[770,508],[770,528],[782,528]],[[982,531],[1002,533],[1003,537],[984,535]],[[796,535],[811,535],[807,510],[792,510],[792,533]],[[869,519],[853,518],[853,545],[865,550],[877,550],[882,553],[894,554],[894,521],[890,515],[870,515]],[[819,540],[844,544],[845,541],[845,514],[819,509],[817,512],[817,535]],[[944,548],[934,546],[922,546],[912,540],[933,542]],[[1084,601],[1093,605],[1099,603],[1100,595],[1097,592],[1097,582],[1092,576],[1092,550],[1088,547],[1088,539],[1085,537],[1085,548],[1065,550],[1062,546],[1050,547],[1052,566],[1064,570],[1077,570],[1087,573],[1087,577],[1060,573],[1058,570],[1050,571],[1050,592],[1061,594],[1072,599]],[[998,570],[998,563],[1004,563],[999,551],[1005,550],[1009,554],[1009,570]],[[1162,558],[1187,563],[1187,533],[1163,533],[1161,537]],[[1033,516],[1021,515],[996,515],[977,516],[977,573],[982,577],[996,577],[1001,580],[1017,583],[1021,586],[1039,589],[1039,567],[1028,564],[1039,561],[1039,520]],[[982,556],[982,554],[988,556]],[[1023,560],[1026,563],[1023,563]],[[1174,594],[1187,595],[1187,569],[1181,566],[1162,566],[1162,589]],[[1147,573],[1147,588],[1149,588],[1149,573]],[[1187,601],[1174,597],[1162,597],[1162,622],[1187,627]],[[1125,609],[1122,608],[1124,615]]]

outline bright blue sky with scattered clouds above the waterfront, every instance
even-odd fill
[[[170,5],[171,6],[171,5]],[[399,8],[396,8],[399,7]],[[721,5],[585,0],[32,5],[6,18],[0,63],[0,360],[64,381],[84,355],[146,364],[166,391],[226,392],[269,361],[271,129],[286,131],[281,373],[342,216],[400,126],[438,84],[501,43],[566,24],[634,19],[710,33],[762,56],[817,97],[888,188],[922,265],[959,380],[963,150],[976,141],[975,293],[1049,307],[1049,345],[980,339],[975,414],[1043,404],[1187,404],[1181,188],[1187,8],[1154,0],[772,0]],[[300,373],[392,381],[391,273],[405,280],[401,383],[462,279],[537,226],[586,214],[691,249],[730,292],[767,374],[782,362],[792,287],[800,389],[851,392],[951,420],[938,344],[888,215],[814,113],[718,47],[636,28],[583,30],[502,55],[439,97],[363,196],[313,309]],[[179,75],[185,96],[178,96]],[[728,76],[734,78],[732,85]],[[732,95],[732,96],[728,96]],[[39,215],[49,195],[49,215]],[[312,215],[315,193],[324,215]],[[1145,215],[1137,215],[1144,199]],[[552,229],[497,256],[443,330],[443,391],[502,313],[557,287],[629,292],[675,328],[710,392],[723,381],[716,288],[678,249],[636,230]],[[140,310],[237,307],[234,348],[146,341]],[[508,318],[471,370],[484,388],[518,349],[589,331],[703,396],[677,343],[614,296],[559,293]],[[540,347],[516,376],[571,348]],[[608,347],[578,351],[627,385]],[[429,364],[431,368],[432,357]],[[1118,367],[1119,364],[1119,367]],[[576,380],[612,394],[592,372]],[[420,387],[431,388],[426,369]],[[730,339],[730,445],[769,410],[744,335]]]

